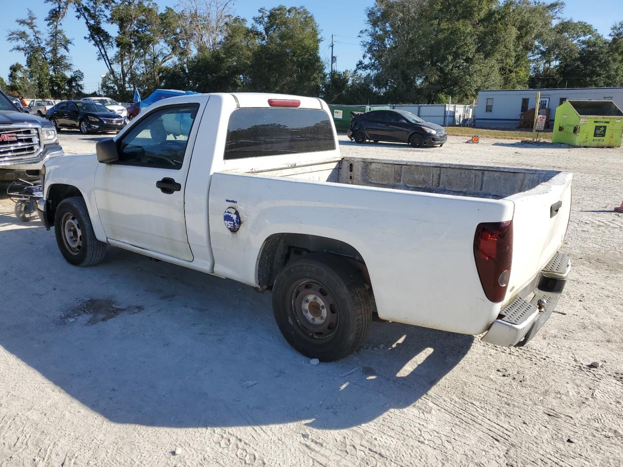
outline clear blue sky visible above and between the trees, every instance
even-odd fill
[[[156,0],[161,7],[175,6],[176,0]],[[9,0],[0,0],[0,3]],[[359,46],[359,31],[366,27],[366,12],[368,6],[374,4],[374,0],[313,0],[313,1],[265,1],[235,0],[234,14],[245,17],[251,21],[261,7],[273,7],[278,4],[287,6],[305,6],[316,17],[321,30],[323,42],[320,45],[320,56],[328,66],[330,50],[329,43],[331,33],[336,35],[335,55],[338,57],[338,70],[354,68],[361,58]],[[587,7],[589,5],[590,7]],[[597,7],[598,6],[598,7]],[[2,11],[0,21],[0,76],[7,78],[9,66],[15,62],[24,63],[22,54],[9,52],[11,45],[6,40],[7,33],[16,26],[18,18],[26,17],[27,9],[30,8],[39,16],[40,27],[45,29],[44,17],[49,10],[49,5],[44,0],[26,0],[11,2],[11,7]],[[566,0],[565,16],[575,21],[586,21],[597,28],[602,35],[607,35],[610,27],[617,21],[623,21],[623,0]],[[65,19],[67,35],[74,40],[72,47],[72,59],[74,66],[82,70],[85,76],[85,91],[97,90],[100,75],[106,72],[102,62],[95,59],[95,47],[83,39],[86,29],[82,22],[75,19],[70,13]]]

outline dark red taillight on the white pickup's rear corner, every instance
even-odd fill
[[[513,260],[513,221],[478,224],[473,255],[487,298],[494,303],[504,300]]]

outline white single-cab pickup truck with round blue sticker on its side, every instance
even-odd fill
[[[68,262],[113,245],[272,290],[285,339],[321,361],[375,314],[521,346],[571,267],[571,174],[341,158],[317,98],[169,98],[96,149],[45,164],[39,214]]]

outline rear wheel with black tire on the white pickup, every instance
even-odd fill
[[[363,344],[374,309],[359,271],[330,255],[288,263],[273,286],[273,312],[283,337],[298,352],[323,362],[342,359]]]

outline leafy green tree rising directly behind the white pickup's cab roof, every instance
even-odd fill
[[[258,91],[318,95],[323,78],[318,24],[304,7],[262,8],[254,17],[259,37],[250,70]]]

